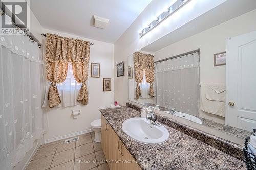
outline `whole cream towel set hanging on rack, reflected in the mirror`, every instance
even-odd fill
[[[225,93],[223,85],[217,87],[213,84],[201,84],[200,109],[207,113],[225,117],[225,97],[222,93]],[[221,95],[218,96],[218,94]]]

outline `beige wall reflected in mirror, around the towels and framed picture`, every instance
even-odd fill
[[[225,83],[226,66],[214,67],[215,53],[226,51],[229,37],[256,30],[256,10],[226,21],[216,27],[166,46],[154,53],[154,60],[160,60],[200,48],[200,82]],[[200,117],[225,123],[225,118],[200,110]]]

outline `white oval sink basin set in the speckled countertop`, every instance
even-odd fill
[[[122,129],[130,138],[145,144],[160,144],[169,138],[169,132],[164,126],[155,126],[146,118],[127,119],[123,122]]]

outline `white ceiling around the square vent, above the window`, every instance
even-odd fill
[[[30,0],[42,27],[114,43],[151,0]],[[93,26],[93,15],[110,19],[106,29]]]

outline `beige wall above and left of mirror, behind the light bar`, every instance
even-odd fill
[[[150,23],[156,16],[158,16],[163,9],[171,5],[173,1],[166,0],[152,0],[152,2],[141,12],[132,25],[122,34],[122,36],[114,44],[114,82],[115,82],[115,100],[120,105],[125,105],[129,99],[128,94],[128,56],[134,52],[139,51],[143,47],[157,39],[173,32],[177,28],[185,25],[185,23],[197,18],[203,13],[215,8],[226,0],[204,0],[204,1],[190,1],[189,4],[174,13],[172,17],[166,18],[163,23],[157,26],[150,33],[139,38],[139,31],[142,30],[148,23]],[[197,7],[196,10],[193,7]],[[182,13],[182,18],[179,17]],[[172,26],[172,27],[169,27]],[[126,70],[124,76],[116,77],[116,64],[124,61]]]

